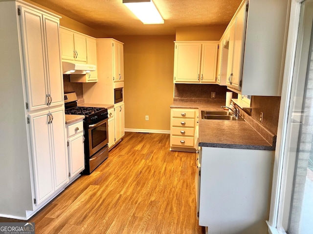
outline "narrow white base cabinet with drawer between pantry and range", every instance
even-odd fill
[[[85,169],[83,120],[67,125],[69,180]]]

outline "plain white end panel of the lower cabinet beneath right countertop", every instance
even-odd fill
[[[274,153],[201,147],[196,175],[199,225],[210,234],[267,233]]]

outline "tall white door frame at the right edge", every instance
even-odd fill
[[[292,193],[292,181],[295,162],[285,155],[289,145],[290,128],[288,123],[291,119],[290,105],[291,84],[295,68],[295,55],[298,39],[301,3],[304,0],[291,0],[290,20],[288,29],[288,41],[286,47],[286,59],[282,86],[282,95],[279,111],[276,151],[274,160],[272,193],[268,223],[269,234],[286,234],[288,228],[290,201]],[[289,170],[290,169],[290,170]]]

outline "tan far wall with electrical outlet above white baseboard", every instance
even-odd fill
[[[175,36],[115,39],[124,42],[125,128],[170,130]]]

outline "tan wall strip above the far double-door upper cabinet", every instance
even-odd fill
[[[181,27],[176,30],[176,40],[220,40],[226,26]]]

